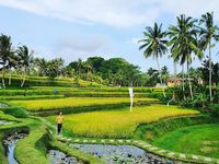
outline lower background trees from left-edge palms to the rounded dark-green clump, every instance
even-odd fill
[[[5,87],[5,74],[8,85],[11,85],[12,74],[20,75],[21,87],[25,83],[26,75],[74,78],[74,81],[82,79],[113,86],[146,86],[155,85],[158,71],[150,68],[148,73],[141,72],[138,66],[129,63],[123,58],[111,58],[105,60],[102,57],[90,57],[87,60],[78,59],[65,65],[65,60],[56,58],[47,60],[34,57],[34,51],[27,46],[12,47],[10,36],[0,36],[0,71],[1,86]],[[169,74],[168,68],[163,68],[163,74]]]

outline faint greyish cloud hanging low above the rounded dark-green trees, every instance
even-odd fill
[[[81,58],[85,60],[88,57],[99,54],[100,50],[104,51],[108,47],[106,46],[106,39],[102,35],[97,36],[62,36],[57,43],[45,46],[32,46],[35,49],[36,57],[46,57],[47,59],[62,58],[68,65],[71,61]],[[106,50],[107,51],[107,50]],[[104,55],[102,55],[104,56]]]

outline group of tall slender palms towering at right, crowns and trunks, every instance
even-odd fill
[[[191,78],[191,65],[194,58],[199,60],[205,57],[208,59],[208,86],[209,97],[212,101],[212,61],[211,49],[219,40],[219,27],[214,22],[214,13],[207,12],[203,14],[199,20],[181,14],[176,17],[176,25],[171,25],[166,31],[162,31],[162,24],[154,26],[147,26],[143,32],[143,38],[139,40],[141,43],[139,49],[143,49],[143,56],[146,58],[153,57],[158,63],[158,70],[160,73],[159,58],[170,51],[170,57],[175,63],[182,66],[183,75],[183,94],[185,93],[184,86],[184,67],[187,68],[187,80],[189,84],[191,98],[194,98],[193,85]],[[208,50],[208,51],[207,51]],[[205,52],[207,55],[205,55]],[[218,73],[218,72],[217,72]],[[160,75],[160,82],[162,78]],[[185,95],[184,95],[185,99]]]

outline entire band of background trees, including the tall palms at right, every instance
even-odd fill
[[[182,72],[174,75],[183,80],[183,94],[185,84],[188,83],[189,95],[193,98],[192,84],[196,79],[201,78],[205,84],[208,83],[209,97],[212,99],[211,84],[218,84],[219,67],[218,62],[211,61],[211,49],[215,48],[218,40],[219,28],[214,23],[212,13],[203,14],[199,20],[182,14],[176,17],[176,25],[171,25],[166,31],[162,30],[162,24],[154,23],[152,27],[146,27],[143,38],[139,40],[141,44],[139,49],[143,49],[146,58],[153,57],[158,68],[149,68],[147,72],[142,72],[138,66],[129,63],[123,58],[106,60],[94,56],[84,61],[78,59],[68,66],[65,66],[61,58],[51,60],[35,58],[34,51],[30,50],[27,46],[14,48],[11,37],[1,34],[1,85],[5,87],[5,74],[9,77],[9,85],[11,85],[11,75],[15,73],[21,75],[21,87],[24,85],[27,74],[48,77],[51,80],[58,77],[69,77],[76,81],[82,79],[105,85],[154,86],[157,83],[166,83],[171,77],[168,68],[161,67],[159,62],[159,59],[169,52],[173,62],[182,66]],[[197,69],[191,68],[194,58],[204,59]],[[187,68],[186,72],[185,67]],[[183,97],[185,98],[185,94]]]

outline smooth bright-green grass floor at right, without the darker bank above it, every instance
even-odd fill
[[[176,152],[219,159],[219,124],[180,128],[158,138],[153,143]]]

